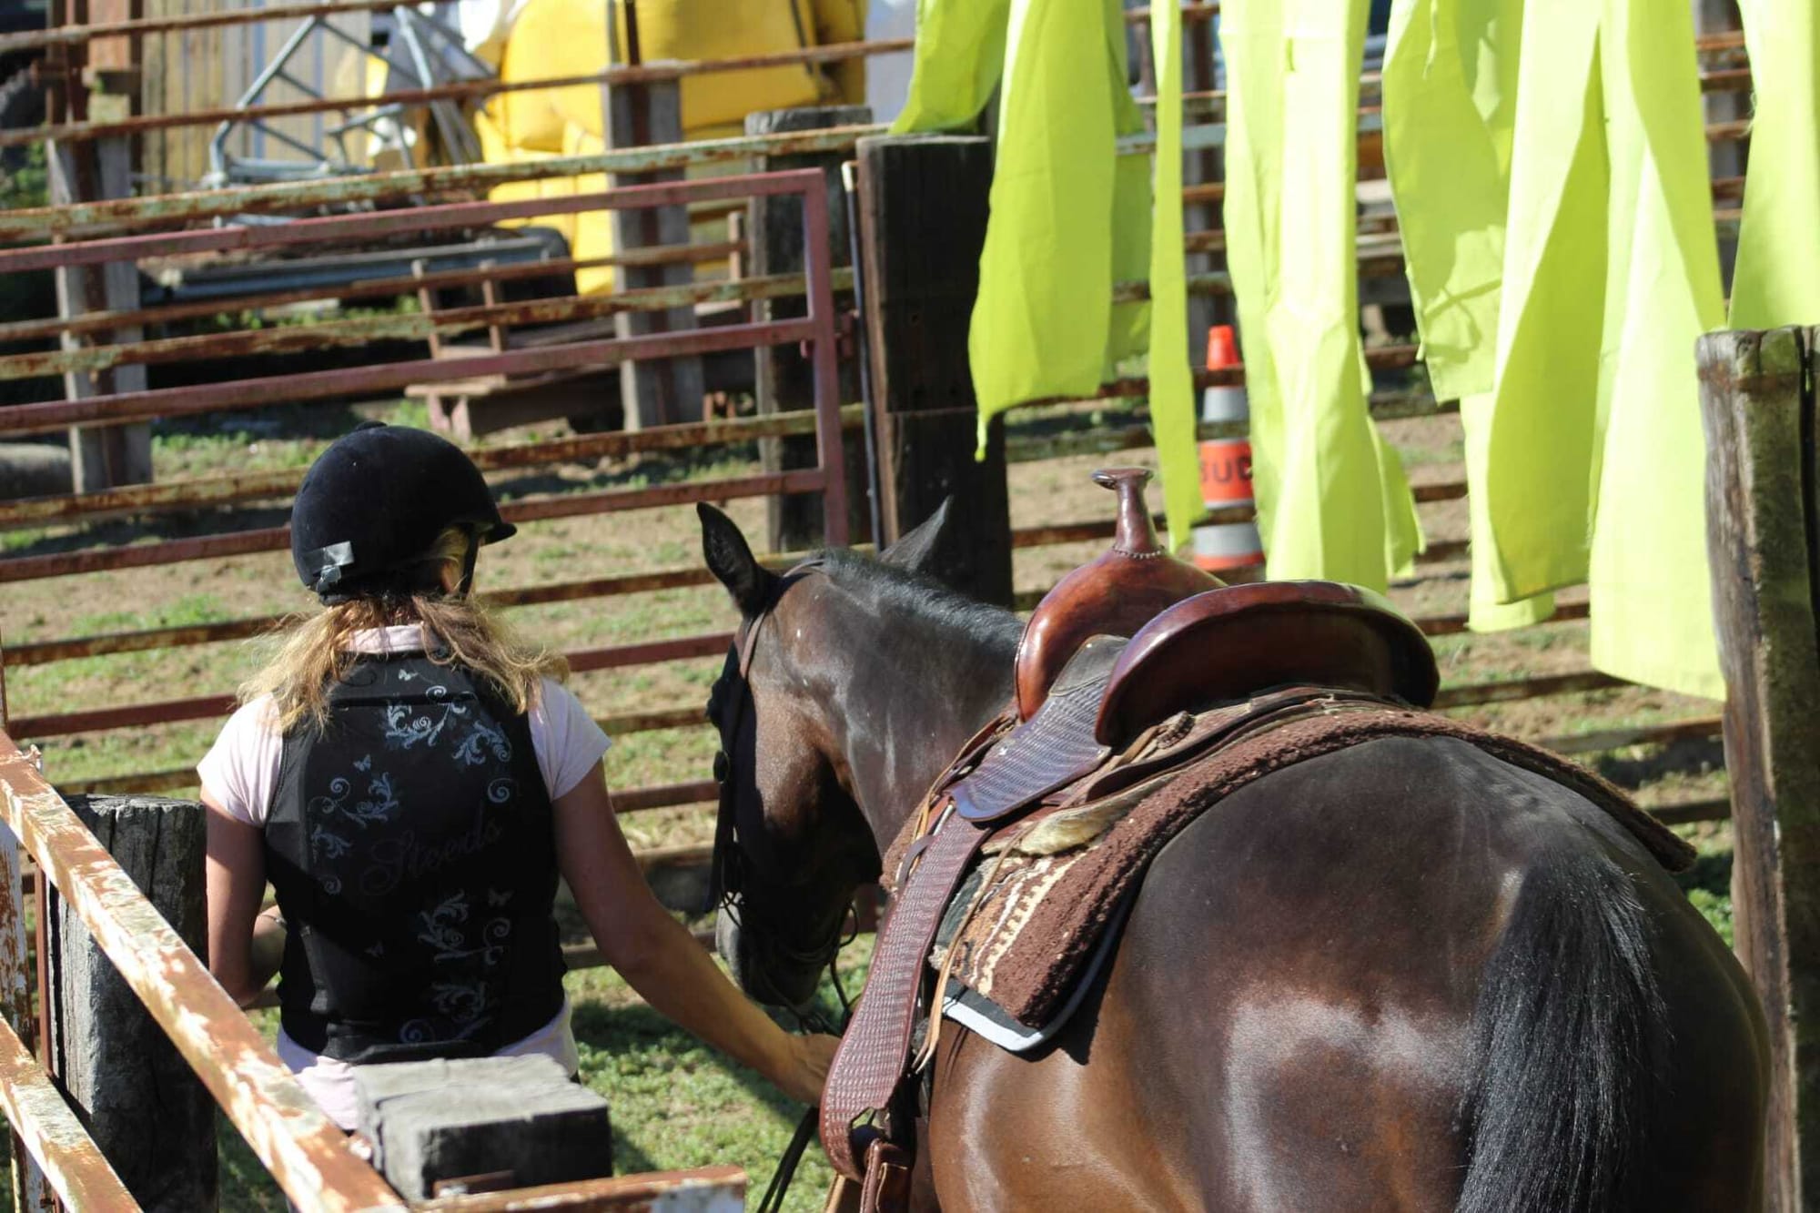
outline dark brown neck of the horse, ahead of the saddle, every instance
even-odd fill
[[[905,605],[859,621],[846,678],[828,679],[824,719],[879,854],[959,749],[1012,699],[1017,619],[965,627]]]

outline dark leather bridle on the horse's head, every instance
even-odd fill
[[[832,965],[841,947],[850,940],[848,918],[835,920],[834,931],[799,945],[788,938],[779,923],[768,916],[753,914],[744,892],[748,885],[772,883],[744,861],[744,849],[739,845],[739,780],[733,770],[733,749],[739,745],[739,730],[744,725],[746,703],[752,698],[752,657],[757,650],[759,634],[772,617],[784,590],[801,581],[810,572],[821,568],[819,559],[808,559],[790,568],[777,579],[764,606],[741,621],[741,628],[728,648],[726,665],[715,679],[708,698],[708,719],[721,734],[721,747],[713,756],[713,780],[719,785],[719,814],[713,827],[713,858],[710,860],[708,911],[724,911],[739,925],[746,947],[764,958],[784,960],[801,967],[821,969]],[[786,902],[788,898],[775,898]],[[835,980],[835,991],[839,991]],[[846,1002],[843,993],[843,1004]],[[815,1025],[819,1016],[806,1007],[790,1007],[804,1025]]]

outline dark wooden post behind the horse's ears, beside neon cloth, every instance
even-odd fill
[[[1012,603],[1005,430],[974,459],[979,408],[966,330],[986,240],[992,140],[905,135],[859,140],[859,240],[879,452],[881,543],[954,497],[937,574],[963,594]]]

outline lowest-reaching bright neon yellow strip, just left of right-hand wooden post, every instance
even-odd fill
[[[1687,5],[1607,0],[1611,262],[1600,346],[1592,665],[1725,698],[1694,341],[1725,322]]]

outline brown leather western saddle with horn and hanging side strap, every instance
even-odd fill
[[[1434,654],[1385,599],[1330,581],[1219,583],[1158,543],[1148,479],[1141,468],[1094,474],[1117,494],[1112,548],[1037,605],[1017,647],[1016,703],[915,814],[932,825],[906,851],[821,1106],[823,1144],[861,1184],[863,1209],[901,1208],[908,1191],[908,1133],[892,1106],[910,1067],[925,958],[994,832],[1181,769],[1334,692],[1434,701]],[[863,1124],[874,1113],[886,1113],[890,1133]]]

